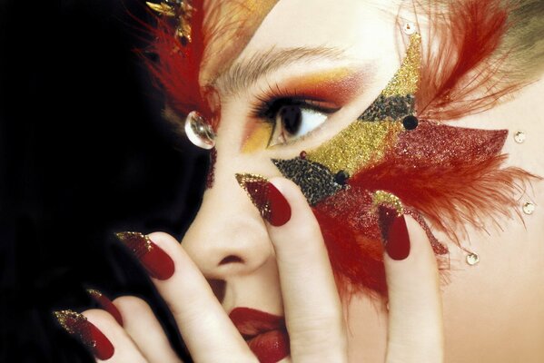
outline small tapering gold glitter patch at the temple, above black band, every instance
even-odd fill
[[[420,34],[413,34],[410,36],[410,45],[402,61],[401,68],[393,76],[381,94],[385,97],[391,97],[416,93],[420,80],[420,65],[421,36]]]

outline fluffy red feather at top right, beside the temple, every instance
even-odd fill
[[[497,76],[509,56],[496,53],[513,6],[502,0],[465,0],[449,2],[442,12],[428,10],[431,26],[416,93],[420,119],[440,122],[480,113],[524,85]]]

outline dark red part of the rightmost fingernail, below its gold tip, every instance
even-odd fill
[[[393,260],[404,260],[410,255],[410,237],[403,215],[381,205],[378,207],[381,238],[387,254]]]

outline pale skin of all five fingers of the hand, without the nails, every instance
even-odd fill
[[[271,182],[292,210],[291,219],[282,226],[266,223],[278,264],[290,336],[291,358],[285,361],[347,362],[348,333],[320,227],[295,184],[282,178]],[[390,298],[385,361],[441,362],[443,328],[436,260],[419,224],[409,216],[404,219],[410,235],[410,254],[404,260],[393,260],[387,252],[384,255]],[[172,276],[152,280],[171,309],[193,360],[257,362],[183,246],[165,233],[148,237],[156,245],[154,248],[163,250],[173,261]],[[168,275],[153,271],[149,260],[143,262],[152,275],[162,279]],[[114,307],[122,315],[123,326],[101,309],[83,313],[113,345],[108,362],[181,361],[143,299],[121,297],[114,300]]]

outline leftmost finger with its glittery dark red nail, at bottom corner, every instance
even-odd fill
[[[54,316],[68,333],[94,354],[96,361],[146,362],[124,329],[106,311],[90,309],[79,314],[73,310],[61,310],[55,311]]]

